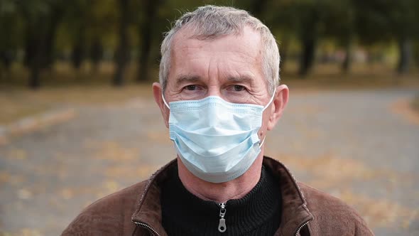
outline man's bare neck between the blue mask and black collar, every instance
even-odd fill
[[[178,158],[179,178],[183,186],[202,200],[213,200],[225,203],[230,199],[238,199],[249,193],[261,178],[263,152],[259,154],[249,170],[239,178],[225,183],[211,183],[194,176]]]

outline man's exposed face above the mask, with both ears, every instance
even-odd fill
[[[241,35],[229,35],[211,40],[190,37],[187,29],[173,38],[170,71],[164,97],[167,102],[200,100],[218,96],[227,102],[266,106],[271,95],[263,78],[261,36],[251,28]],[[170,110],[161,100],[161,87],[153,85],[165,125]],[[285,92],[283,92],[283,90]],[[275,99],[263,112],[259,138],[273,129],[288,100],[288,88],[277,88]]]

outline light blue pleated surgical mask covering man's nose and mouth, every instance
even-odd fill
[[[232,181],[245,173],[261,152],[264,139],[260,141],[258,131],[272,100],[273,96],[263,107],[210,96],[168,105],[163,97],[170,109],[170,139],[186,168],[212,183]]]

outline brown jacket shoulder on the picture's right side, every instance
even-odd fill
[[[304,183],[298,186],[314,217],[308,224],[312,235],[374,235],[357,211],[339,198]]]

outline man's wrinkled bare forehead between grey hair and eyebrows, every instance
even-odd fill
[[[212,70],[214,64],[217,70],[261,72],[261,36],[247,26],[240,34],[211,38],[194,36],[190,30],[183,28],[175,34],[172,43],[169,77],[178,70]]]

